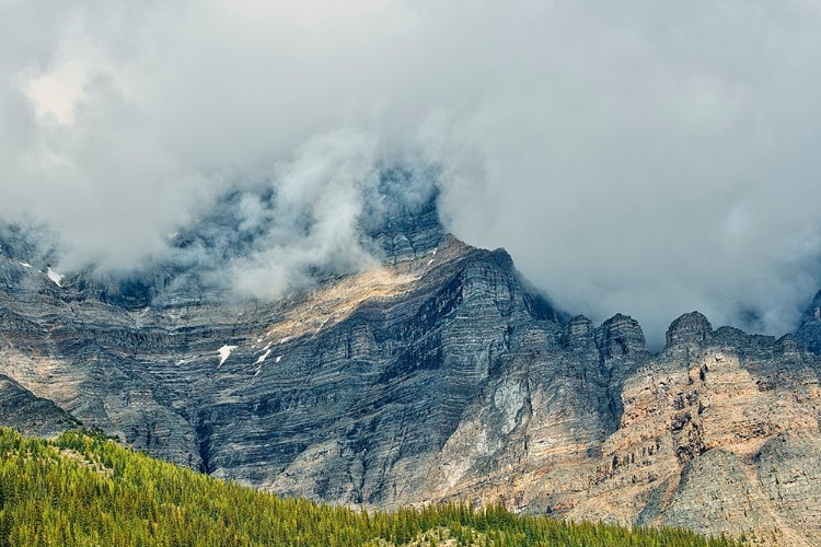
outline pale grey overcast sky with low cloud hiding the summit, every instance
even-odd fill
[[[0,217],[63,269],[161,255],[246,181],[285,197],[243,206],[277,224],[245,291],[367,265],[400,158],[437,166],[450,231],[656,342],[696,309],[780,335],[821,289],[821,2],[113,4],[0,0]]]

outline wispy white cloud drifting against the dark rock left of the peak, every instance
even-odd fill
[[[240,294],[277,298],[302,287],[311,271],[355,271],[377,263],[362,247],[363,196],[377,191],[375,142],[359,131],[312,139],[281,165],[271,198],[241,198],[242,224],[259,229],[256,252],[231,264]]]

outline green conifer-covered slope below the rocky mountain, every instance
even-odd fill
[[[281,500],[66,432],[0,430],[0,545],[127,546],[732,546],[691,532],[563,523],[465,504],[357,512]],[[442,542],[447,544],[446,542]]]

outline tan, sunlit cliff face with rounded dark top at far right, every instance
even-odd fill
[[[570,515],[818,543],[819,366],[793,337],[713,331],[686,314],[622,399],[595,486],[571,499]]]

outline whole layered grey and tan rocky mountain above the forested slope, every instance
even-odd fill
[[[0,373],[135,449],[284,496],[821,542],[818,314],[776,340],[693,312],[655,354],[629,316],[574,317],[504,249],[444,234],[436,196],[388,218],[363,228],[380,266],[274,303],[175,266],[59,279],[4,244]]]

